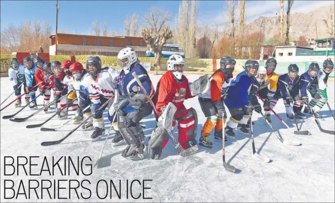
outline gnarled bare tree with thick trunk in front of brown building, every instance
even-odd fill
[[[160,68],[163,45],[172,37],[172,31],[166,25],[170,17],[170,13],[157,7],[150,7],[143,15],[147,28],[141,29],[141,35],[152,52],[155,53],[157,69]]]

